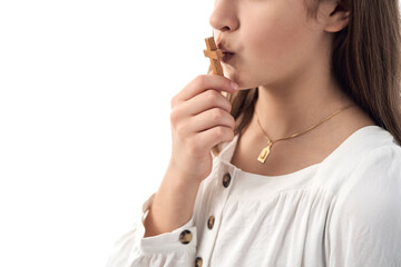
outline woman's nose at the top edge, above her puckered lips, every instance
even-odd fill
[[[215,0],[214,10],[209,18],[211,26],[219,31],[235,30],[238,28],[236,7],[233,0]]]

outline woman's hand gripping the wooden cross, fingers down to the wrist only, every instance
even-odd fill
[[[238,87],[223,76],[200,75],[172,100],[173,149],[168,171],[199,184],[212,171],[212,148],[234,138],[235,120],[222,91]]]

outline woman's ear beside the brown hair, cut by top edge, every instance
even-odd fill
[[[327,6],[324,8],[324,30],[327,32],[341,31],[349,23],[350,0],[333,0],[327,1],[326,4]]]

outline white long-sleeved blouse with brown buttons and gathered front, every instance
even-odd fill
[[[107,266],[401,266],[401,147],[390,132],[361,128],[283,176],[233,166],[237,139],[214,158],[187,224],[144,238],[154,194]]]

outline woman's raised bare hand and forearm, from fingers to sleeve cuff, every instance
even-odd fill
[[[203,75],[172,100],[172,158],[144,221],[145,237],[169,233],[189,220],[200,182],[212,171],[212,148],[234,138],[231,103],[222,91],[235,92],[231,80]]]

